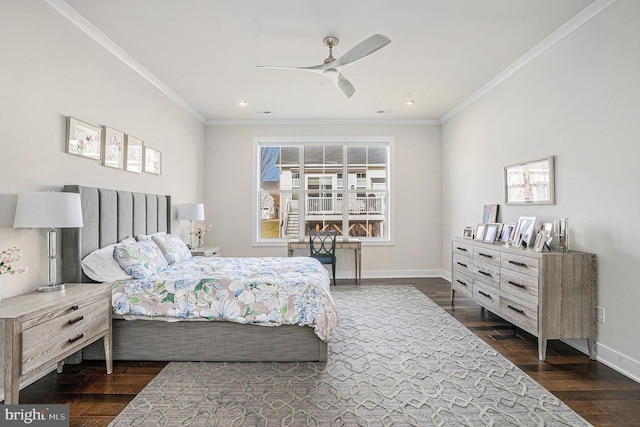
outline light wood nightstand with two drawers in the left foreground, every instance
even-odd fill
[[[45,372],[92,342],[104,340],[111,358],[111,285],[67,283],[57,292],[32,292],[0,302],[0,380],[4,403],[18,403],[21,381]]]

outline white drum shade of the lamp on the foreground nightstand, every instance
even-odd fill
[[[13,228],[70,228],[82,225],[82,204],[77,193],[33,191],[18,194]]]

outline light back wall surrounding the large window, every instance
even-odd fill
[[[253,247],[251,179],[254,137],[394,137],[392,189],[395,244],[363,248],[363,277],[440,275],[441,168],[439,126],[208,126],[208,244],[226,256],[286,256],[286,246]],[[339,254],[338,277],[354,277],[353,254]]]

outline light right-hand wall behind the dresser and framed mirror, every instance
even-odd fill
[[[598,260],[598,352],[640,378],[640,2],[618,0],[442,127],[443,268],[450,238],[480,222],[569,218]],[[556,156],[556,205],[505,207],[503,167]]]

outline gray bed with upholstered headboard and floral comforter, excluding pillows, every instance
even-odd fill
[[[82,270],[81,261],[99,248],[120,242],[128,236],[171,233],[170,196],[79,185],[67,185],[64,191],[80,194],[84,220],[82,228],[63,229],[62,276],[67,283],[93,282]],[[286,281],[289,287],[292,283],[311,282],[310,278],[302,277],[306,274],[302,272],[308,271],[301,264],[307,262],[306,259],[193,257],[171,266],[178,270],[174,272],[178,277],[175,280],[180,282],[180,277],[184,279],[178,287],[184,286],[184,282],[189,280],[193,284],[187,286],[191,292],[187,297],[182,291],[181,301],[186,300],[191,304],[189,307],[204,307],[202,301],[197,300],[196,294],[199,293],[203,298],[208,295],[210,304],[205,308],[209,311],[185,309],[184,306],[180,308],[181,301],[175,301],[176,295],[179,294],[175,291],[175,283],[164,286],[168,279],[160,276],[168,274],[169,269],[149,278],[146,283],[113,282],[113,358],[141,361],[326,361],[327,342],[331,339],[338,318],[335,306],[325,309],[330,312],[327,319],[318,321],[311,327],[299,326],[304,324],[301,321],[304,315],[296,317],[291,312],[286,314],[282,311],[292,310],[293,305],[301,304],[301,299],[309,299],[308,295],[298,298],[297,303],[292,302],[284,309],[278,307],[278,310],[272,310],[275,315],[271,316],[251,313],[247,308],[248,294],[241,295],[243,289],[250,289],[257,294],[261,286],[265,287],[282,280]],[[318,274],[324,276],[323,284],[320,286],[326,287],[328,292],[329,275],[324,267],[319,263],[317,265]],[[188,270],[189,268],[191,270]],[[188,271],[194,271],[193,269],[201,272],[201,279],[206,280],[187,280],[191,274]],[[278,270],[281,272],[278,273]],[[228,272],[235,275],[229,277]],[[316,276],[317,274],[314,275]],[[252,284],[247,282],[242,285],[242,280],[250,281]],[[313,280],[319,279],[316,277]],[[198,284],[200,289],[196,292],[194,288]],[[167,300],[166,288],[171,286],[173,292],[169,293],[173,296]],[[204,286],[210,287],[203,289]],[[296,286],[301,285],[293,285]],[[162,301],[163,297],[160,295],[152,302],[138,304],[136,298],[149,293],[150,288],[164,289],[165,301]],[[220,296],[220,292],[226,294]],[[238,306],[233,306],[233,310],[229,310],[229,307],[222,311],[212,310],[215,308],[214,304],[211,304],[213,294],[217,295],[218,300],[223,301],[231,297],[240,297]],[[330,294],[328,295],[330,299]],[[273,298],[271,296],[271,301],[265,305],[271,304]],[[131,307],[123,308],[122,303],[127,301],[137,303],[133,304],[133,311]],[[176,312],[172,313],[171,318],[166,315],[167,303],[173,306]],[[313,301],[311,303],[313,304]],[[234,321],[211,320],[227,320],[226,313],[230,311],[240,311],[244,316]],[[225,313],[224,316],[221,316],[222,312]],[[278,318],[278,315],[281,316]],[[293,324],[282,324],[287,316],[287,322]],[[83,350],[82,357],[103,359],[104,349],[96,345],[89,346]]]

